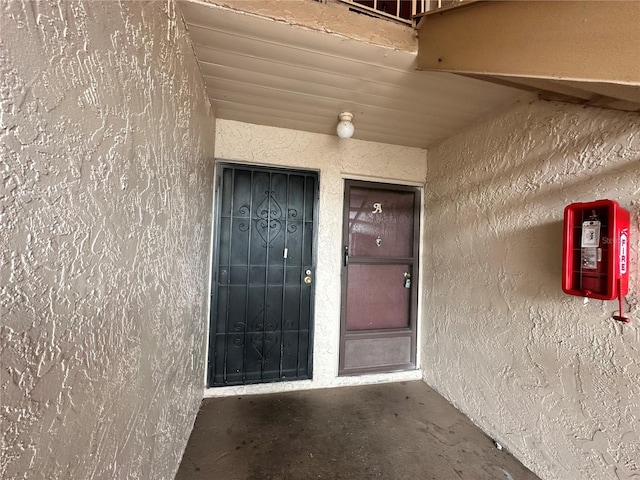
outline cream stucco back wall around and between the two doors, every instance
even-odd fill
[[[210,395],[264,393],[420,378],[419,371],[340,378],[337,378],[337,372],[344,179],[359,178],[423,185],[426,180],[426,151],[419,148],[356,139],[340,140],[337,136],[218,120],[216,159],[320,172],[318,265],[315,278],[313,381],[224,387],[210,389],[208,393]]]

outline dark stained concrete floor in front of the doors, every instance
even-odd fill
[[[534,480],[423,382],[205,399],[177,480]]]

